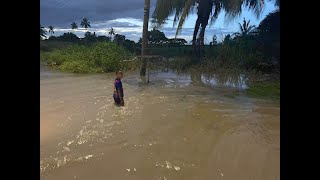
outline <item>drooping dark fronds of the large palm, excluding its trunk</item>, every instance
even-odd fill
[[[201,0],[200,0],[201,1]],[[242,8],[246,7],[250,10],[253,10],[254,14],[259,17],[262,9],[264,7],[265,0],[213,0],[214,9],[213,12],[210,12],[210,22],[211,26],[215,20],[218,18],[221,10],[226,12],[226,20],[233,20],[235,17],[238,17]],[[279,2],[280,0],[275,0]],[[190,13],[195,9],[196,0],[157,0],[156,8],[152,15],[152,24],[155,27],[161,27],[168,20],[168,17],[174,15],[173,26],[178,23],[176,36],[181,32],[181,28]],[[247,31],[249,22],[245,26],[240,27],[242,31]]]

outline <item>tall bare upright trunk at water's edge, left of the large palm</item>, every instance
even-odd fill
[[[144,1],[144,17],[143,17],[143,32],[142,32],[142,50],[141,50],[141,56],[142,56],[142,66],[140,70],[140,76],[146,75],[147,70],[147,59],[144,58],[146,55],[146,48],[148,44],[148,23],[149,23],[149,11],[150,11],[150,0]]]

